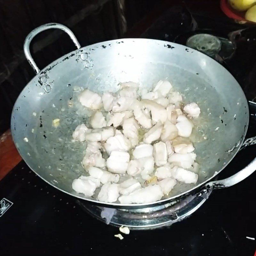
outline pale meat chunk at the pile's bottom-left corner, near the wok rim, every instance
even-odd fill
[[[92,177],[80,176],[72,182],[72,188],[85,196],[92,196],[98,187],[100,187],[99,180]]]

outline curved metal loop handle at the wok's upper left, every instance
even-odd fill
[[[26,56],[29,64],[35,70],[36,74],[38,74],[40,72],[40,69],[36,66],[36,62],[33,60],[32,56],[31,56],[31,53],[29,51],[29,45],[30,45],[30,42],[32,41],[32,39],[37,34],[39,34],[40,32],[42,32],[44,30],[51,29],[51,28],[58,28],[58,29],[63,30],[64,32],[66,32],[70,36],[70,38],[74,42],[74,44],[76,45],[77,49],[81,48],[81,45],[78,43],[78,41],[76,39],[76,36],[73,34],[73,32],[69,28],[67,28],[66,26],[64,26],[62,24],[59,24],[59,23],[47,23],[47,24],[44,24],[44,25],[42,25],[42,26],[40,26],[38,28],[35,28],[26,37],[23,49],[24,49],[24,53],[25,53],[25,56]]]

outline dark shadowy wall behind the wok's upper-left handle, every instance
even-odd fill
[[[58,22],[70,28],[81,46],[124,37],[159,3],[157,0],[0,0],[0,134],[10,127],[15,100],[35,76],[23,53],[34,28]],[[32,56],[44,68],[75,50],[70,38],[48,30],[31,43]]]

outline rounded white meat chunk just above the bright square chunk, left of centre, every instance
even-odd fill
[[[131,148],[131,142],[123,134],[117,134],[108,138],[104,147],[108,154],[112,151],[128,151]]]

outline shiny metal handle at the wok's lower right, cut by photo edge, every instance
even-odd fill
[[[244,180],[249,175],[251,175],[256,170],[256,157],[248,164],[244,169],[232,175],[231,177],[224,180],[216,180],[208,182],[205,185],[206,189],[218,189],[218,188],[228,188],[235,185],[236,183]]]

